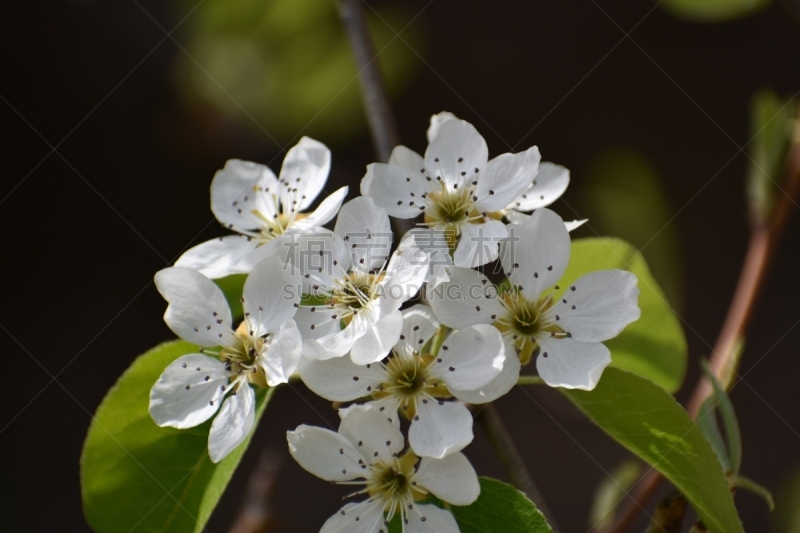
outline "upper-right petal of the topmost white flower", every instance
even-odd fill
[[[499,211],[520,194],[525,194],[525,189],[536,178],[541,159],[539,149],[534,146],[519,154],[503,154],[489,161],[475,186],[475,196],[479,198],[476,207],[481,211]]]

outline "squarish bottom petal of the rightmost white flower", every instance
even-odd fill
[[[537,339],[540,352],[536,370],[551,387],[592,390],[611,363],[611,352],[599,342],[575,339]]]

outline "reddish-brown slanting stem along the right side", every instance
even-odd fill
[[[750,243],[733,300],[709,361],[709,368],[717,378],[726,374],[735,376],[733,372],[735,368],[732,367],[735,365],[737,346],[744,339],[764,280],[772,266],[775,251],[786,229],[786,224],[797,207],[797,200],[800,199],[800,138],[797,135],[787,154],[785,168],[787,170],[786,179],[771,216],[766,220],[756,216],[750,217]],[[727,382],[727,380],[721,381]],[[731,379],[730,385],[734,382],[735,379]],[[697,417],[700,406],[709,397],[711,390],[708,378],[701,375],[686,407],[692,418]],[[622,514],[614,527],[608,530],[608,533],[626,531],[656,492],[660,481],[661,474],[655,470],[648,471],[637,483],[638,489],[633,495],[635,501]]]

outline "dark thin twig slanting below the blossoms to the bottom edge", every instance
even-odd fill
[[[508,429],[506,429],[494,404],[490,403],[482,406],[476,416],[476,420],[483,428],[486,439],[489,441],[489,446],[492,447],[494,454],[500,461],[500,465],[508,474],[508,480],[536,504],[539,511],[547,518],[551,529],[557,532],[558,529],[553,522],[553,515],[547,508],[539,489],[536,487],[536,483],[525,466],[525,461],[522,460],[522,456],[519,454],[519,450],[517,450],[514,440],[508,433]]]

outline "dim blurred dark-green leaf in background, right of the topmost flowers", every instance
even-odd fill
[[[591,228],[642,249],[667,299],[683,304],[683,257],[675,210],[652,163],[630,148],[612,148],[595,157],[582,184],[581,201]]]

